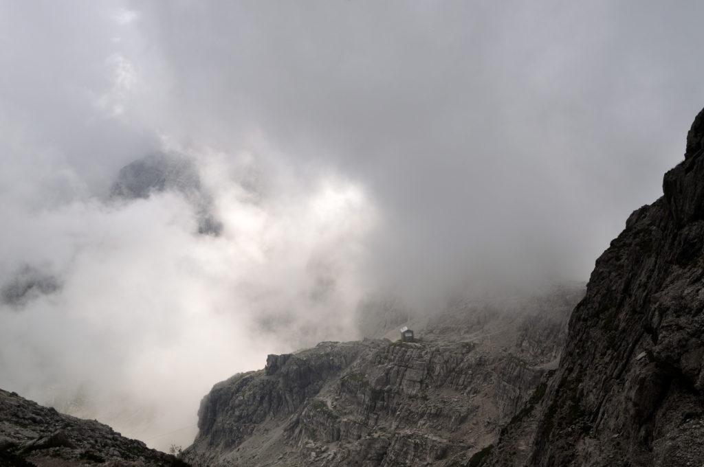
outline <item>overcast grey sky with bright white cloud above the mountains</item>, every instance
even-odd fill
[[[701,18],[697,1],[0,1],[0,285],[28,267],[57,285],[0,305],[0,387],[84,391],[84,414],[129,428],[104,408],[125,397],[160,420],[130,434],[168,446],[152,436],[192,425],[218,379],[356,338],[368,293],[586,281],[682,158]],[[222,236],[194,234],[174,193],[106,203],[154,151],[196,160]]]

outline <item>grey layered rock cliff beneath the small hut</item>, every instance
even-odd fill
[[[581,296],[577,286],[541,298],[454,302],[417,328],[417,343],[367,339],[270,355],[265,369],[218,383],[203,399],[186,459],[464,465],[496,442],[556,364],[560,330]]]

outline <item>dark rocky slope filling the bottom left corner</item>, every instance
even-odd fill
[[[182,466],[188,464],[97,421],[59,414],[0,390],[0,466]]]

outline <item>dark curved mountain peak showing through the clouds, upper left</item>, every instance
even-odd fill
[[[189,200],[199,233],[220,235],[222,222],[211,212],[213,200],[201,184],[198,167],[182,155],[155,153],[125,165],[111,188],[111,198],[149,198],[161,191],[175,191]]]

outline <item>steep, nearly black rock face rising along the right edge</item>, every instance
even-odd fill
[[[664,196],[636,210],[597,260],[558,371],[489,465],[704,461],[703,135],[704,111]]]

